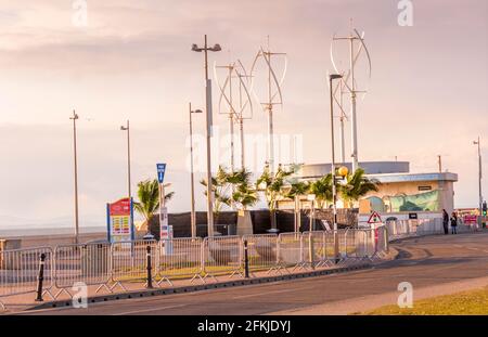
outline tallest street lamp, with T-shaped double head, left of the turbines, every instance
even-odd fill
[[[208,51],[218,52],[222,49],[220,44],[216,43],[214,47],[207,46],[207,36],[205,35],[205,44],[200,48],[192,44],[192,51],[204,52],[205,55],[205,103],[206,103],[206,137],[207,137],[207,235],[214,236],[214,207],[213,207],[213,192],[211,192],[211,157],[210,157],[210,138],[211,138],[211,80],[208,78]]]

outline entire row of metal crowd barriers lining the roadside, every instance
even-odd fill
[[[461,224],[459,230],[472,228]],[[116,286],[126,289],[123,283],[147,281],[147,273],[157,285],[163,282],[172,285],[171,281],[180,278],[205,282],[207,277],[221,275],[244,277],[244,243],[248,270],[269,273],[373,260],[385,256],[393,239],[440,233],[444,233],[441,219],[433,219],[388,221],[376,229],[336,233],[312,231],[0,250],[0,299],[36,290],[41,257],[44,293],[52,296],[55,288],[59,290],[52,296],[55,298],[61,293],[70,295],[68,289],[76,282],[98,286],[97,291],[102,288],[113,291]],[[152,260],[150,270],[147,254]]]

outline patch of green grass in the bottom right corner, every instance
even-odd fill
[[[367,312],[370,315],[488,315],[488,287],[427,298],[413,302],[413,308],[386,306]]]

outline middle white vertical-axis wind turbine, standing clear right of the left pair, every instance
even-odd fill
[[[271,59],[272,56],[284,56],[284,69],[283,75],[281,79],[278,79],[277,74],[274,69],[271,66]],[[261,102],[255,91],[254,91],[254,73],[256,69],[257,62],[259,59],[261,59],[266,62],[266,67],[268,70],[268,98],[266,102]],[[269,36],[268,36],[268,49],[265,51],[265,49],[261,47],[258,53],[256,54],[256,57],[254,59],[253,66],[251,67],[251,89],[253,93],[256,96],[256,100],[258,102],[261,102],[261,105],[264,106],[264,109],[268,113],[268,164],[271,173],[274,172],[274,131],[273,131],[273,106],[274,105],[282,105],[283,104],[283,96],[281,94],[281,86],[283,85],[284,77],[286,75],[286,66],[287,66],[287,59],[286,53],[274,53],[271,52],[269,48]],[[274,88],[273,88],[274,87]]]

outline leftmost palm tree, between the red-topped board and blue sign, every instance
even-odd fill
[[[165,200],[171,199],[174,195],[175,192],[165,194]],[[139,202],[133,203],[133,207],[142,217],[144,217],[145,223],[149,223],[159,208],[159,182],[157,179],[147,179],[139,182],[138,197]]]

